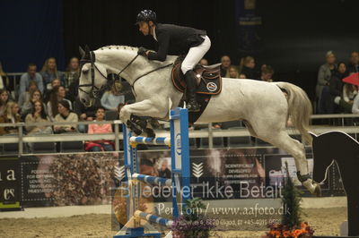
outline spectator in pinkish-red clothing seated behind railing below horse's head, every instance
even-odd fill
[[[99,107],[96,111],[96,120],[94,122],[101,122],[105,119],[105,108]],[[112,133],[111,124],[89,124],[89,134]],[[87,141],[85,144],[87,151],[113,151],[113,142],[109,140],[94,140]]]

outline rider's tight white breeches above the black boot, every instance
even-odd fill
[[[206,55],[208,49],[211,47],[211,40],[206,36],[203,37],[205,40],[201,45],[197,47],[189,48],[188,54],[182,62],[182,66],[180,67],[183,74],[186,72],[193,70],[196,64]]]

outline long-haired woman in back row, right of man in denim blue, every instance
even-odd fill
[[[52,89],[51,82],[54,79],[59,79],[61,81],[61,85],[67,87],[65,73],[57,71],[57,63],[54,57],[50,57],[45,61],[40,73],[44,82],[45,91]]]

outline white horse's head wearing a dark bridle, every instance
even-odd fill
[[[101,97],[101,93],[107,88],[107,70],[105,66],[96,62],[96,56],[89,47],[85,50],[80,47],[80,78],[78,93],[84,106],[92,106],[95,98]]]

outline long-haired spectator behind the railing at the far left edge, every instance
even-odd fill
[[[8,102],[4,115],[0,116],[0,123],[20,123],[19,106],[15,102]],[[0,127],[0,135],[18,134],[18,127],[9,126]]]

